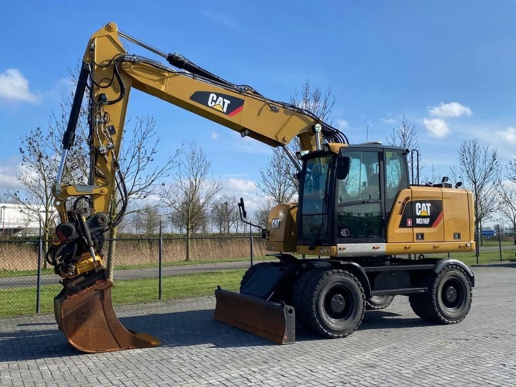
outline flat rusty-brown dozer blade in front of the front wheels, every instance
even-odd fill
[[[216,320],[278,344],[296,342],[293,307],[220,288],[215,291],[215,298],[217,304],[213,318]]]

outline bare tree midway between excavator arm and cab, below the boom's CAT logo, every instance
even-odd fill
[[[179,215],[186,230],[186,261],[190,259],[190,234],[208,217],[222,189],[220,180],[213,178],[211,162],[195,142],[187,143],[175,173],[174,182],[164,186],[164,202]]]

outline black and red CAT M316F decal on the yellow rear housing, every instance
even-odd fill
[[[399,227],[437,227],[442,219],[442,200],[414,200],[405,205]]]

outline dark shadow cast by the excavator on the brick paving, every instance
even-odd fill
[[[236,348],[252,346],[275,346],[277,344],[262,337],[241,331],[213,319],[213,309],[141,316],[121,317],[122,324],[130,329],[155,335],[162,341],[162,347],[187,347],[209,345],[215,348]],[[399,317],[398,317],[399,316]],[[403,318],[388,311],[368,311],[359,330],[403,329],[434,325],[420,318]],[[35,327],[48,329],[34,329]],[[51,328],[54,326],[55,328]],[[72,348],[65,336],[52,322],[23,323],[17,327],[30,327],[15,332],[0,332],[0,344],[5,349],[0,353],[0,362],[22,361],[66,356],[89,356]],[[31,329],[32,328],[32,329]],[[296,341],[331,340],[312,334],[297,324]],[[337,339],[346,340],[346,339]],[[294,344],[295,345],[295,344]],[[147,350],[157,350],[149,348]]]

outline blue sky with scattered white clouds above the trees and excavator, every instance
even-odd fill
[[[351,142],[365,140],[367,125],[369,140],[384,141],[405,113],[418,127],[426,163],[440,174],[456,164],[465,137],[496,147],[504,165],[514,152],[514,1],[0,5],[0,189],[15,184],[20,136],[59,111],[68,69],[109,21],[272,99],[288,101],[306,78],[331,86],[333,124]],[[256,198],[266,146],[134,91],[128,114],[147,113],[157,120],[161,157],[182,138],[194,139],[229,193]]]

